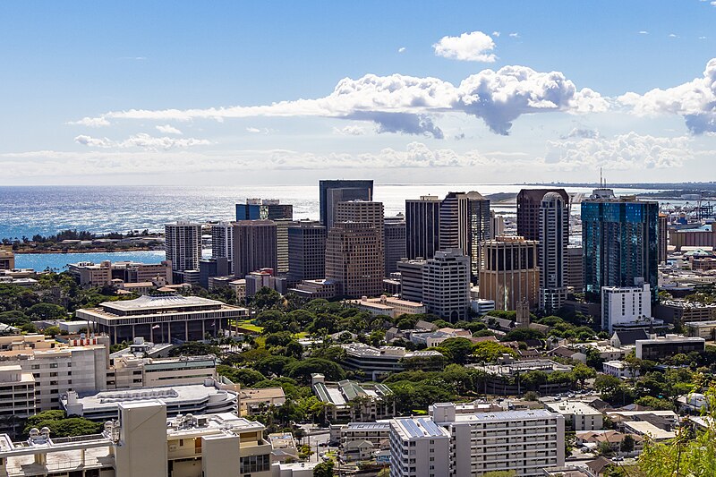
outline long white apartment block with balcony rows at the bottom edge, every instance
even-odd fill
[[[546,410],[456,413],[432,406],[429,417],[390,421],[391,477],[482,475],[512,471],[538,477],[564,465],[565,422]]]

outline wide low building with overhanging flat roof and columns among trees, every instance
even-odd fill
[[[221,336],[222,330],[229,329],[229,320],[247,314],[245,308],[216,300],[170,294],[102,302],[98,308],[78,310],[77,318],[90,321],[96,332],[107,333],[114,345],[138,336],[153,343]]]

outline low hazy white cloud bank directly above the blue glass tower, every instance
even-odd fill
[[[577,136],[578,137],[578,136]],[[642,170],[680,167],[695,156],[687,136],[654,137],[629,132],[613,138],[548,141],[545,163],[558,170]]]

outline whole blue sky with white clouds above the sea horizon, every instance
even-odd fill
[[[716,1],[0,3],[0,185],[716,180]]]

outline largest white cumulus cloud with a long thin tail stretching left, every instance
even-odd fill
[[[442,138],[434,123],[442,113],[464,113],[482,119],[491,131],[507,134],[520,115],[561,111],[601,112],[608,102],[592,89],[577,89],[562,72],[535,72],[526,66],[483,70],[458,86],[438,78],[367,74],[338,82],[328,96],[262,106],[113,111],[95,119],[188,121],[259,116],[320,116],[371,121],[378,132],[401,132]]]

